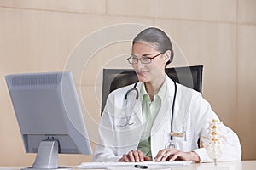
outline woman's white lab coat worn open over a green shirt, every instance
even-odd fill
[[[162,100],[160,111],[154,120],[151,129],[152,157],[159,150],[165,148],[170,139],[172,100],[174,96],[174,83],[166,76],[166,99]],[[139,90],[142,82],[138,82]],[[126,92],[133,88],[134,84],[119,88],[109,94],[107,104],[99,123],[99,144],[96,146],[93,161],[118,161],[124,154],[131,150],[137,150],[143,129],[141,98],[136,98],[133,90],[125,100]],[[195,151],[201,162],[212,161],[204,148],[198,149],[197,140],[207,136],[207,127],[212,119],[218,120],[218,116],[212,111],[209,103],[201,94],[177,83],[177,96],[173,116],[173,131],[186,131],[184,138],[174,137],[173,140],[178,150]],[[127,125],[130,123],[130,125]],[[225,137],[223,156],[218,161],[241,160],[241,145],[239,139],[229,127],[221,127]]]

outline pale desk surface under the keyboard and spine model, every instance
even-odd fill
[[[251,170],[255,169],[256,161],[224,161],[218,162],[214,167],[213,163],[195,163],[189,167],[172,167],[172,170]],[[18,170],[21,167],[0,167],[0,170]],[[73,169],[77,169],[73,167]],[[134,168],[136,169],[136,168]]]

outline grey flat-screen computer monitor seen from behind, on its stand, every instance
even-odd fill
[[[5,77],[27,153],[37,153],[27,169],[58,167],[58,153],[92,153],[71,72]]]

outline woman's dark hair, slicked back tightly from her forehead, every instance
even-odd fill
[[[162,54],[166,53],[167,50],[170,50],[171,57],[167,61],[166,65],[172,62],[174,55],[172,50],[172,42],[164,31],[161,31],[155,27],[149,27],[138,33],[137,36],[133,39],[132,44],[140,41],[153,43],[157,50],[159,50]]]

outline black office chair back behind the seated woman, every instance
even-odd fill
[[[166,74],[174,82],[193,88],[201,93],[203,65],[166,68]],[[137,74],[132,69],[103,69],[102,111],[106,105],[108,94],[137,82]]]

